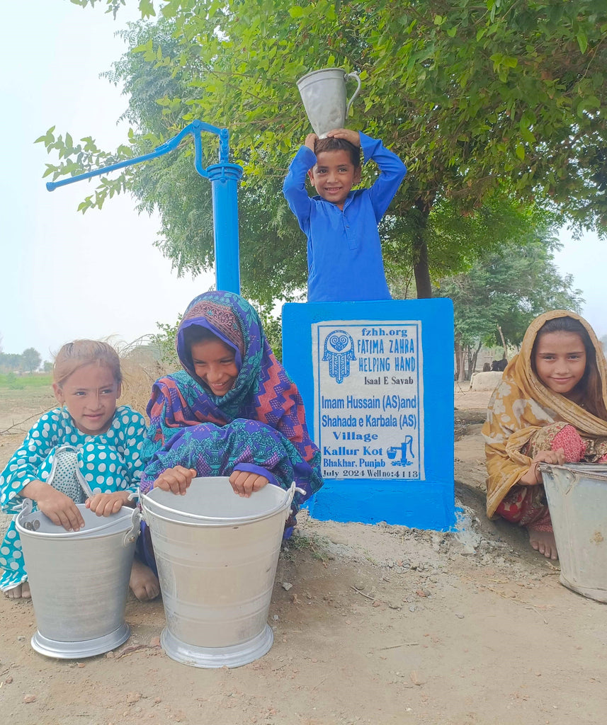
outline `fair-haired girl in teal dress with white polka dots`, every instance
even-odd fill
[[[30,596],[15,528],[24,498],[66,531],[78,531],[84,520],[77,503],[98,516],[132,506],[128,496],[144,470],[146,424],[128,405],[116,406],[122,374],[115,350],[94,340],[70,342],[57,354],[53,378],[62,407],[40,418],[0,475],[0,505],[15,514],[0,545],[0,589],[14,599]],[[139,560],[133,563],[131,589],[141,600],[160,592],[156,577]]]

